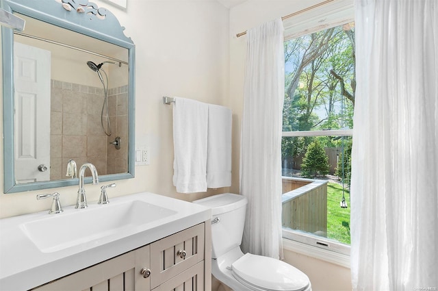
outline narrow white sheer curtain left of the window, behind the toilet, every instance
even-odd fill
[[[281,19],[248,30],[240,193],[248,197],[242,249],[283,257],[281,131],[285,62]]]

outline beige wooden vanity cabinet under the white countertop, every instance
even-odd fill
[[[210,290],[210,227],[208,220],[33,290]]]

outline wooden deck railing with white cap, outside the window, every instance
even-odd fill
[[[327,181],[283,177],[283,227],[327,236]]]

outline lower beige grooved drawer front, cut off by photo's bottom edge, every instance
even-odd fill
[[[162,283],[153,291],[203,291],[204,261],[188,268],[183,273]]]

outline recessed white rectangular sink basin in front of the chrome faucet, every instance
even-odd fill
[[[114,240],[141,225],[176,213],[158,205],[133,200],[47,215],[40,220],[23,223],[21,229],[40,251],[51,253],[79,244]]]

